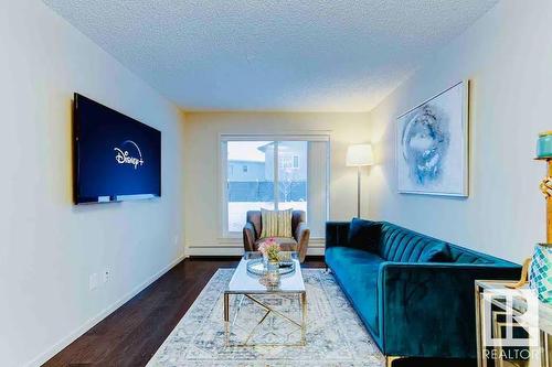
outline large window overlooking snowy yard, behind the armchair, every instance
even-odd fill
[[[328,136],[221,136],[221,162],[223,236],[242,233],[247,211],[294,208],[307,213],[312,238],[323,237]]]

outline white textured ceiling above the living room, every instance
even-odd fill
[[[365,111],[498,0],[44,0],[185,110]]]

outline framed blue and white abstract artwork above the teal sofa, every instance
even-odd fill
[[[469,80],[401,115],[396,123],[400,193],[468,196]]]

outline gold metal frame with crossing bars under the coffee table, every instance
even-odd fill
[[[293,292],[282,292],[280,294],[291,294]],[[237,306],[237,310],[234,315],[233,322],[230,321],[230,295],[231,294],[236,294],[236,295],[242,295],[242,300],[240,301],[240,304]],[[301,320],[300,322],[293,320],[291,317],[285,315],[283,312],[275,310],[270,305],[266,304],[263,301],[259,301],[255,295],[256,294],[263,294],[263,295],[277,295],[279,294],[278,292],[270,292],[270,293],[237,293],[237,292],[230,292],[225,291],[224,292],[224,337],[225,337],[225,345],[227,347],[248,347],[248,346],[305,346],[307,345],[307,338],[306,338],[306,333],[307,333],[307,292],[297,292],[295,294],[298,295],[298,302],[300,303],[300,309],[301,309]],[[251,301],[253,301],[254,304],[258,305],[259,307],[264,309],[266,312],[263,315],[263,317],[257,322],[257,324],[247,334],[247,337],[243,343],[231,343],[230,341],[230,334],[231,334],[231,326],[234,325],[237,315],[241,311],[241,304],[243,302],[243,298],[247,298]],[[250,343],[252,337],[255,335],[255,332],[258,330],[258,327],[265,322],[265,320],[268,317],[268,315],[275,315],[278,316],[283,320],[286,320],[289,322],[291,325],[296,326],[298,330],[300,330],[301,336],[300,341],[298,343]]]

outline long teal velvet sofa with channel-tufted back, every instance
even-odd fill
[[[360,244],[350,244],[350,223],[327,223],[326,263],[388,360],[475,358],[474,281],[519,279],[521,267],[391,223],[364,223]]]

